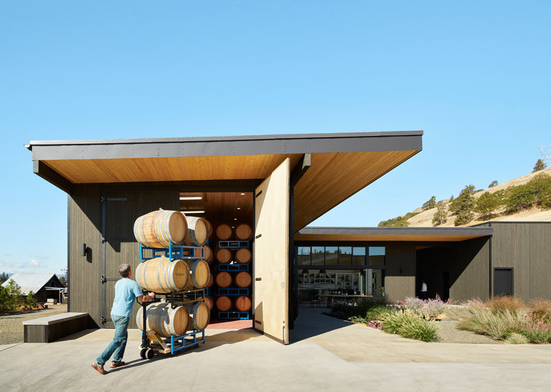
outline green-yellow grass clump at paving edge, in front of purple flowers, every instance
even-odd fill
[[[436,322],[425,320],[408,309],[387,313],[383,318],[382,330],[423,342],[438,340]]]

